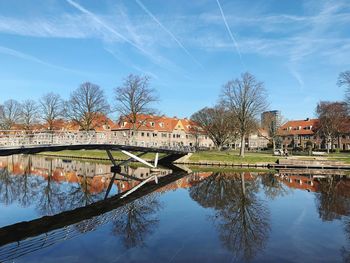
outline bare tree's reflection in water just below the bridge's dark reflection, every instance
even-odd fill
[[[116,235],[121,235],[126,248],[145,245],[145,236],[150,235],[159,223],[156,213],[161,205],[156,194],[139,198],[122,207],[120,216],[114,220]]]

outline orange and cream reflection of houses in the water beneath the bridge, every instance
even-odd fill
[[[37,175],[45,180],[52,180],[57,183],[75,183],[85,186],[89,193],[97,194],[105,191],[109,185],[111,172],[110,165],[78,160],[51,159],[38,155],[23,156],[13,155],[0,157],[0,169],[7,169],[14,176],[23,174]],[[157,176],[162,177],[170,174],[169,169],[157,169]],[[122,174],[128,175],[125,177]],[[147,167],[122,167],[121,174],[117,174],[114,185],[118,192],[128,191],[138,185],[142,179],[151,176],[153,171]],[[194,173],[190,177],[184,177],[164,189],[190,187],[211,173]],[[135,178],[135,179],[132,179]],[[167,191],[166,190],[166,191]]]

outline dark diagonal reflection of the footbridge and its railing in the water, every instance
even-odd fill
[[[0,228],[0,262],[13,261],[27,253],[111,222],[123,212],[125,205],[157,192],[187,175],[187,172],[171,168],[175,169],[174,174],[159,178],[158,183],[148,182],[129,195],[118,194],[85,207]]]

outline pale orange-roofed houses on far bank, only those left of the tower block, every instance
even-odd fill
[[[187,118],[140,114],[137,116],[136,123],[131,123],[126,118],[120,118],[114,122],[104,115],[99,115],[94,120],[93,126],[96,139],[114,144],[132,144],[145,147],[214,148],[215,146],[209,136],[195,122]],[[36,124],[32,128],[36,132],[47,131],[47,127],[43,124]],[[74,133],[78,134],[80,131],[77,124],[64,120],[57,120],[53,129],[55,132],[68,134],[62,135],[62,140],[71,140]],[[23,127],[17,125],[15,130],[22,131]],[[50,136],[47,135],[47,138],[40,138],[40,140],[49,142]],[[263,149],[267,148],[268,142],[266,132],[259,130],[259,132],[248,136],[245,146],[249,149]],[[230,146],[239,148],[240,140],[233,141]]]

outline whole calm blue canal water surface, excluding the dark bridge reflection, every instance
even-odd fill
[[[7,225],[102,200],[109,169],[0,158],[0,234]],[[151,174],[142,167],[123,172],[129,178],[119,176],[110,196]],[[0,262],[350,262],[350,179],[307,171],[195,172],[104,214],[36,232],[3,244]]]

